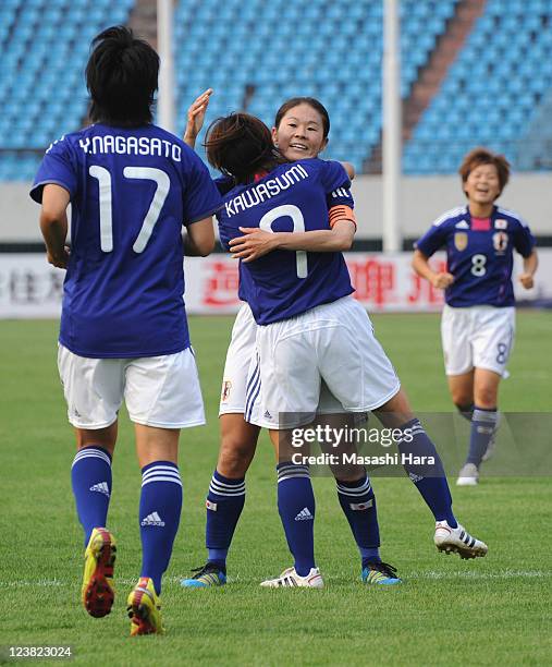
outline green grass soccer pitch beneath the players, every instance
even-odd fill
[[[438,317],[372,319],[414,408],[451,411]],[[483,477],[477,488],[453,487],[456,514],[490,547],[487,558],[468,562],[434,549],[432,517],[407,480],[376,480],[382,556],[404,579],[391,589],[361,584],[334,484],[316,478],[316,547],[327,587],[261,590],[260,580],[291,565],[263,435],[229,559],[229,585],[180,587],[180,577],[205,560],[204,498],[216,464],[231,324],[191,319],[208,426],[181,438],[185,499],[162,596],[168,634],[131,640],[124,606],[139,572],[140,487],[131,424],[122,415],[110,511],[119,543],[118,597],[110,616],[93,619],[78,599],[83,548],[70,488],[74,444],[56,369],[58,324],[0,323],[0,645],[71,644],[74,663],[83,665],[550,664],[545,477]],[[519,313],[502,410],[552,412],[551,333],[552,314]]]

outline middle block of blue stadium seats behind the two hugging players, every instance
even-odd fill
[[[401,3],[403,97],[455,2]],[[175,21],[179,131],[189,102],[209,86],[214,95],[207,121],[242,108],[246,85],[254,86],[247,110],[269,125],[286,98],[309,95],[330,112],[327,154],[360,171],[381,130],[382,7],[375,0],[181,0]]]

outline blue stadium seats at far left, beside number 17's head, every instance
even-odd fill
[[[0,2],[0,180],[32,180],[45,147],[87,110],[90,39],[126,23],[134,0]]]

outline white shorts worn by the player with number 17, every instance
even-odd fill
[[[77,428],[106,428],[116,421],[123,399],[131,420],[159,428],[205,424],[194,353],[138,359],[89,359],[63,345],[58,368],[68,417]]]

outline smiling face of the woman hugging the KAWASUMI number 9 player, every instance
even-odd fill
[[[317,157],[328,144],[322,117],[305,102],[285,112],[278,128],[272,128],[272,141],[289,160]]]

